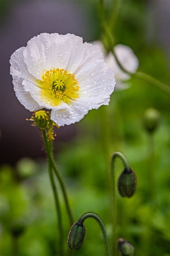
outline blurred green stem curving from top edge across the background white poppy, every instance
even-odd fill
[[[119,68],[123,72],[129,74],[132,77],[140,78],[144,81],[150,82],[151,84],[153,84],[154,86],[159,88],[162,92],[170,95],[170,87],[167,86],[166,84],[160,82],[156,78],[154,78],[154,77],[152,77],[148,74],[145,74],[143,72],[131,73],[122,66],[119,59],[117,58],[117,55],[115,54],[115,51],[114,51],[114,48],[113,48],[114,47],[114,39],[113,39],[112,33],[110,33],[110,29],[109,29],[106,21],[105,21],[103,0],[99,0],[99,14],[100,14],[100,20],[101,20],[101,25],[102,25],[102,28],[103,28],[103,32],[105,33],[105,36],[107,37],[107,40],[108,40],[107,51],[109,51],[109,50],[112,51],[112,53],[114,55],[114,58],[115,58],[115,61],[116,61],[117,65],[119,66]]]

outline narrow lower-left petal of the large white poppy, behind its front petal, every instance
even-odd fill
[[[37,102],[32,98],[30,93],[28,91],[25,91],[22,82],[23,78],[13,76],[14,91],[19,102],[25,107],[25,109],[28,109],[30,111],[41,109]]]

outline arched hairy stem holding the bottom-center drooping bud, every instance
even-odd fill
[[[110,256],[110,246],[109,246],[109,239],[108,239],[108,236],[107,236],[107,232],[106,232],[106,229],[105,229],[105,226],[104,226],[104,223],[103,221],[100,219],[100,217],[95,214],[95,213],[92,213],[92,212],[88,212],[88,213],[85,213],[84,215],[82,215],[78,221],[78,223],[81,225],[83,224],[83,222],[85,221],[85,219],[87,218],[93,218],[95,219],[98,224],[100,225],[100,228],[101,228],[101,231],[103,233],[103,237],[104,237],[104,244],[105,244],[105,252],[106,252],[106,255],[107,256]]]

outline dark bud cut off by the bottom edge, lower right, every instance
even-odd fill
[[[122,256],[134,256],[134,246],[123,238],[118,239],[118,247],[121,251]]]

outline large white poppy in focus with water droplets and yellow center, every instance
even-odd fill
[[[101,51],[79,36],[42,33],[10,59],[16,97],[30,111],[52,109],[59,126],[108,105],[114,73]]]

